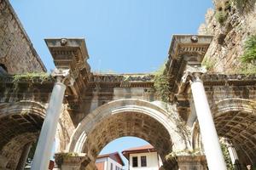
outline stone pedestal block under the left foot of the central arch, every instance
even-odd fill
[[[87,165],[90,162],[84,153],[56,153],[55,163],[60,170],[79,170],[81,164]]]

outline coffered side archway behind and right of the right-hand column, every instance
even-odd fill
[[[223,99],[212,105],[212,116],[219,137],[230,139],[245,164],[256,162],[256,102],[250,99]],[[198,122],[193,146],[201,148]]]

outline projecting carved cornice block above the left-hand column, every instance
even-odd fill
[[[88,87],[90,65],[84,39],[53,38],[45,39],[58,71],[67,71],[67,95],[79,96]],[[57,73],[58,74],[58,73]],[[60,78],[60,77],[59,77]],[[63,77],[62,77],[63,78]],[[66,83],[67,83],[66,82]]]

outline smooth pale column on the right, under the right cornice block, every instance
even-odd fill
[[[195,111],[200,126],[202,143],[207,156],[209,170],[226,170],[224,156],[218,141],[218,134],[207,101],[207,94],[200,74],[191,77],[191,90],[195,102]]]

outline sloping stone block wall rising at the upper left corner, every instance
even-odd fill
[[[8,0],[0,0],[0,64],[10,74],[46,71]]]

